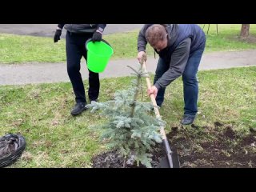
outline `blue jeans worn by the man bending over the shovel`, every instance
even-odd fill
[[[184,93],[184,115],[194,118],[198,112],[198,66],[202,58],[202,50],[196,50],[190,55],[186,63],[185,70],[182,73],[183,81],[183,93]],[[162,58],[158,60],[158,66],[155,71],[154,83],[158,81],[158,78],[162,77],[162,74],[170,68],[170,64],[166,63]],[[161,88],[158,90],[158,95],[156,97],[156,102],[158,106],[162,106],[164,101],[164,94],[166,88]]]

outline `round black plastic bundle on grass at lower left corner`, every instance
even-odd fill
[[[25,138],[20,134],[6,134],[0,138],[0,167],[16,162],[25,148]]]

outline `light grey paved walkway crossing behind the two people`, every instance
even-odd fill
[[[154,74],[158,58],[148,58],[147,70]],[[100,78],[116,78],[128,76],[132,70],[138,69],[137,59],[110,60]],[[237,66],[256,66],[256,50],[216,52],[204,54],[199,70],[224,69]],[[82,77],[88,78],[86,62],[82,59]],[[0,64],[0,85],[23,85],[42,82],[70,82],[66,72],[66,63],[30,63],[30,64]]]

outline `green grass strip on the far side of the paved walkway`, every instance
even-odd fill
[[[206,24],[205,32],[207,28]],[[241,24],[219,24],[217,35],[216,25],[210,25],[206,34],[206,52],[256,49],[256,24],[250,25],[250,42],[239,40],[240,29]],[[103,38],[114,48],[111,59],[136,58],[137,37],[138,30],[104,35]],[[150,46],[147,46],[147,54],[154,55]],[[0,34],[0,63],[23,62],[66,62],[65,39],[54,43],[53,38]]]

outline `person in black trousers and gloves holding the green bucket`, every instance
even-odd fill
[[[102,32],[106,24],[58,24],[54,34],[54,42],[60,40],[63,27],[66,31],[66,60],[67,72],[73,86],[75,94],[75,106],[71,110],[72,115],[81,114],[86,110],[86,94],[80,74],[80,62],[82,56],[87,59],[86,41],[92,38],[92,42],[102,40]],[[88,69],[89,70],[89,69]],[[88,97],[90,102],[96,101],[99,94],[98,73],[89,70],[89,90]]]

